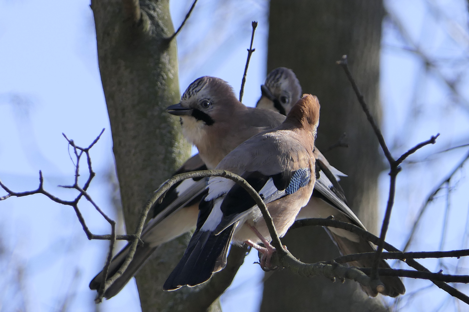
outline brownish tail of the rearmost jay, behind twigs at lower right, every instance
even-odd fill
[[[339,248],[341,254],[357,254],[357,253],[367,253],[374,252],[373,248],[367,240],[359,238],[358,242],[351,241],[345,237],[339,236],[327,228],[325,228],[328,234],[331,236],[336,246]],[[373,265],[373,259],[363,259],[359,261],[349,262],[350,265],[360,267],[360,268],[371,268]],[[381,260],[379,263],[380,268],[390,268],[389,264],[385,260]],[[397,276],[379,276],[381,282],[385,286],[385,291],[383,295],[390,297],[397,297],[405,293],[406,289],[401,279]],[[372,297],[376,297],[378,292],[376,289],[371,289],[370,287],[363,287],[362,289]]]

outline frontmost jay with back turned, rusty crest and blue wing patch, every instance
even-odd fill
[[[314,138],[319,102],[306,94],[280,126],[248,139],[221,160],[217,169],[242,176],[266,203],[283,236],[308,203],[316,180]],[[254,199],[234,181],[212,177],[199,205],[197,228],[163,289],[196,286],[226,265],[230,242],[257,247],[271,240]],[[262,251],[262,249],[260,249]]]

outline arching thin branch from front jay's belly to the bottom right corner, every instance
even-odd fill
[[[297,220],[295,223],[290,227],[290,229],[295,229],[303,226],[330,226],[330,227],[336,227],[340,229],[347,230],[349,232],[353,232],[358,234],[361,238],[366,239],[368,241],[371,241],[373,244],[378,245],[379,238],[370,232],[367,232],[363,230],[361,227],[358,227],[356,225],[353,225],[348,222],[342,222],[338,220],[333,220],[330,218],[327,219],[322,219],[322,218],[310,218],[310,219],[303,219],[303,220]],[[400,252],[399,249],[396,247],[384,242],[383,247],[387,251],[391,252]],[[376,253],[375,253],[376,254]],[[422,272],[430,272],[429,269],[425,268],[423,265],[415,261],[414,259],[405,259],[405,261],[410,267],[415,268],[418,271]],[[448,294],[450,294],[453,297],[456,297],[460,299],[461,301],[465,302],[466,304],[469,305],[469,297],[465,294],[463,294],[461,291],[455,289],[454,287],[448,285],[447,283],[444,282],[438,282],[438,281],[432,281],[435,285],[437,285],[440,289],[445,290]]]

